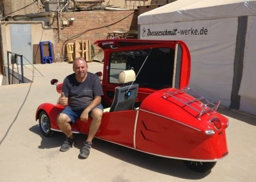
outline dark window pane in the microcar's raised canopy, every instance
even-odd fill
[[[160,89],[171,86],[173,79],[174,52],[171,48],[149,48],[113,52],[110,61],[110,83],[119,83],[122,70],[133,69],[140,87]]]

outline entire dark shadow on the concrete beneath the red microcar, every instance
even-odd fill
[[[65,135],[61,132],[54,132],[52,137],[43,136],[39,125],[32,126],[29,130],[41,136],[41,143],[38,146],[40,149],[60,147],[65,138]],[[75,137],[76,145],[74,147],[81,148],[86,138],[85,134],[76,134]],[[169,176],[184,179],[202,179],[210,174],[210,171],[204,173],[195,172],[187,168],[182,160],[153,156],[98,138],[94,138],[92,148],[127,163]]]

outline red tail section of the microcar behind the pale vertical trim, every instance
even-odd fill
[[[136,148],[160,156],[187,159],[214,160],[225,156],[228,153],[225,134],[228,119],[217,112],[204,114],[200,119],[191,117],[191,112],[162,99],[165,91],[151,94],[140,105]],[[221,118],[220,130],[209,123],[213,117]],[[205,131],[209,129],[216,134],[207,136]]]

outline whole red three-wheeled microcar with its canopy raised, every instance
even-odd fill
[[[104,53],[101,79],[105,108],[96,137],[160,157],[181,159],[193,170],[211,170],[228,154],[228,119],[189,85],[191,58],[182,41],[108,39],[96,41]],[[53,79],[57,90],[61,83]],[[36,120],[41,132],[60,131],[63,106],[43,103]],[[72,132],[88,134],[89,121]]]

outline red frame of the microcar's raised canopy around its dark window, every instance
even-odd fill
[[[138,66],[138,64],[136,64],[138,63],[138,59],[135,59],[134,55],[132,55],[131,52],[135,52],[135,51],[146,52],[147,54],[149,54],[147,50],[157,50],[157,49],[160,50],[163,48],[169,48],[169,50],[173,52],[172,56],[170,56],[171,58],[164,57],[164,56],[151,57],[152,60],[147,60],[149,62],[151,61],[151,63],[148,64],[148,66],[145,66],[144,70],[142,70],[143,73],[140,73],[140,77],[144,75],[144,78],[142,78],[142,80],[151,79],[149,76],[151,76],[151,74],[155,74],[155,77],[154,77],[155,83],[158,83],[163,79],[171,79],[171,81],[169,81],[169,83],[171,83],[171,87],[184,88],[189,85],[191,58],[189,54],[189,49],[187,48],[187,45],[183,41],[106,39],[106,40],[96,41],[94,44],[98,45],[104,51],[105,66],[104,66],[103,74],[108,78],[111,75],[111,63],[113,62],[112,60],[113,55],[116,55],[120,52],[125,54],[130,54],[131,55],[130,58],[133,57],[133,60],[130,60],[130,61],[125,60],[127,61],[126,62],[126,65],[127,65],[126,69],[127,69],[127,68],[134,68],[135,67],[134,65]],[[142,60],[140,61],[143,62],[146,56],[147,55],[145,55],[144,57],[141,56]],[[164,66],[163,65],[164,61],[162,61],[163,59],[168,59],[171,64]],[[138,67],[137,70],[140,70],[140,67]],[[165,73],[163,72],[164,70],[165,70]],[[168,72],[169,74],[171,74],[171,76],[161,77],[161,75],[166,74]],[[136,72],[136,74],[138,74],[138,72]]]

